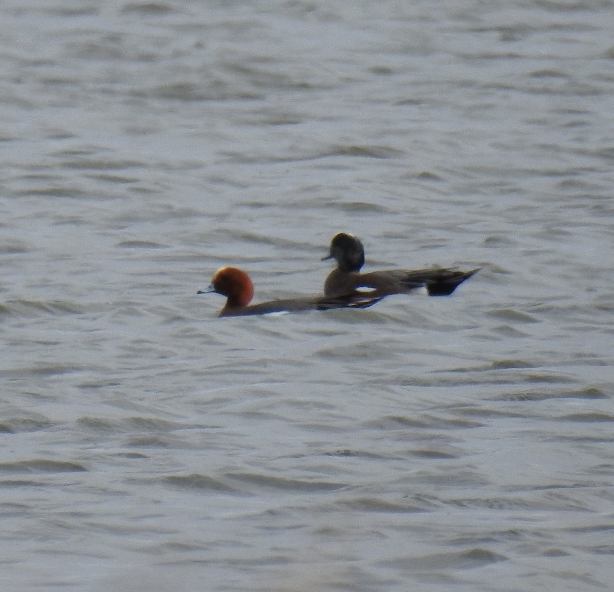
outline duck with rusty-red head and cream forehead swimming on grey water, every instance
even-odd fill
[[[254,284],[249,275],[236,267],[222,267],[211,278],[207,290],[198,294],[217,292],[226,296],[226,304],[220,310],[220,317],[265,315],[270,312],[300,312],[302,310],[330,310],[341,308],[366,309],[379,302],[383,296],[368,294],[343,294],[341,296],[315,296],[313,298],[287,298],[249,304],[254,296]]]

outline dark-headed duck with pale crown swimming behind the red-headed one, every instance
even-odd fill
[[[348,296],[359,292],[373,298],[389,294],[406,294],[417,288],[426,288],[429,296],[449,296],[465,280],[476,274],[481,268],[470,271],[443,269],[386,269],[360,273],[365,263],[365,249],[360,239],[347,232],[339,232],[330,242],[328,255],[322,261],[335,259],[333,269],[324,282],[325,296]]]

